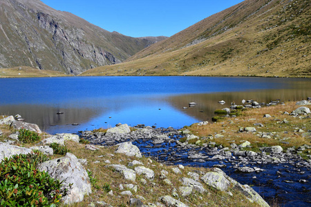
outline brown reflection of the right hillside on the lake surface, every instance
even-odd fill
[[[300,85],[301,86],[301,85]],[[311,96],[311,85],[305,84],[299,89],[278,89],[278,90],[255,90],[245,92],[220,92],[212,94],[192,94],[167,97],[167,101],[171,105],[185,112],[187,115],[194,117],[200,121],[211,121],[214,117],[216,109],[228,108],[231,103],[242,105],[243,99],[269,103],[280,99],[281,101],[298,101]],[[225,104],[220,104],[218,101],[224,100]],[[189,102],[196,102],[197,105],[193,108],[183,109],[187,107]]]

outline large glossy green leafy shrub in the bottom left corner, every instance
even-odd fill
[[[48,172],[36,169],[47,160],[46,155],[35,152],[1,161],[0,206],[56,206],[66,190]]]

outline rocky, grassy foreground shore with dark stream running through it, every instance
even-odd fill
[[[294,132],[285,134],[301,139],[297,142],[300,146],[296,146],[296,142],[291,144],[294,142],[291,138],[283,139],[279,135],[281,132],[267,132],[266,129],[272,127],[270,122],[261,124],[257,123],[258,119],[247,121],[256,122],[253,126],[240,126],[239,122],[235,130],[231,130],[236,133],[236,137],[232,137],[224,129],[217,128],[217,124],[207,121],[180,130],[144,125],[129,128],[127,124],[117,124],[108,130],[84,131],[79,135],[47,135],[35,124],[23,122],[21,117],[3,117],[0,119],[0,160],[35,149],[48,154],[51,160],[37,169],[64,180],[64,188],[68,188],[69,193],[62,199],[62,205],[232,206],[238,201],[239,206],[269,206],[255,191],[261,185],[265,189],[263,194],[272,190],[281,195],[279,190],[283,188],[281,191],[287,190],[290,199],[291,193],[299,193],[301,204],[308,204],[311,177],[309,103],[308,100],[296,103],[303,106],[295,105],[292,112],[282,112],[292,126],[286,119],[277,119],[276,115],[265,113],[262,116],[265,120],[273,119],[274,125],[285,124],[292,128]],[[253,102],[248,105],[260,106]],[[236,115],[231,115],[219,124],[227,130],[232,129],[233,124],[228,127],[228,123],[234,122],[232,119],[239,121]],[[293,124],[292,119],[302,120],[301,127],[297,128],[298,124]],[[41,140],[32,146],[22,144],[17,131],[21,128],[39,133]],[[211,134],[202,132],[205,136],[201,136],[200,132],[208,128],[217,128],[219,132],[211,133],[210,130]],[[247,140],[247,136],[265,139],[269,144],[259,145],[254,139]],[[224,139],[227,144],[223,143]],[[82,140],[89,144],[82,144]],[[273,145],[274,141],[280,145]],[[53,143],[68,147],[70,152],[64,157],[53,155],[49,146]],[[254,189],[240,183],[247,183]],[[288,185],[292,186],[288,188]]]

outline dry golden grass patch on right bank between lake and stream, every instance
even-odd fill
[[[283,112],[292,112],[299,106],[295,102],[288,102],[285,105],[277,105],[270,107],[263,107],[258,109],[249,109],[242,112],[241,116],[225,118],[222,121],[208,124],[207,126],[197,126],[193,124],[187,127],[191,132],[200,137],[207,137],[208,135],[221,134],[225,137],[216,138],[216,144],[222,144],[229,147],[233,142],[241,144],[244,141],[249,141],[252,144],[252,150],[258,150],[260,146],[276,146],[280,145],[283,148],[292,146],[302,146],[303,144],[310,144],[310,140],[302,137],[303,132],[296,132],[297,129],[302,129],[305,132],[311,129],[311,119],[301,119],[284,115]],[[311,107],[309,107],[311,108]],[[271,118],[263,117],[269,114]],[[281,121],[287,120],[288,124],[281,124]],[[254,124],[263,124],[263,127],[254,126]],[[255,127],[256,132],[238,132],[239,128]],[[222,132],[225,130],[225,132]],[[273,132],[271,139],[259,137],[259,132]],[[288,142],[288,144],[282,141]],[[204,141],[203,141],[204,143]]]

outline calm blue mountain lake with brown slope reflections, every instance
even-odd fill
[[[242,99],[301,100],[311,79],[258,77],[53,77],[0,79],[0,114],[21,115],[41,130],[78,132],[115,124],[182,128],[210,121]],[[226,101],[221,106],[218,101]],[[183,109],[189,102],[194,108]],[[57,115],[57,112],[64,112]],[[73,126],[72,124],[79,124]]]

